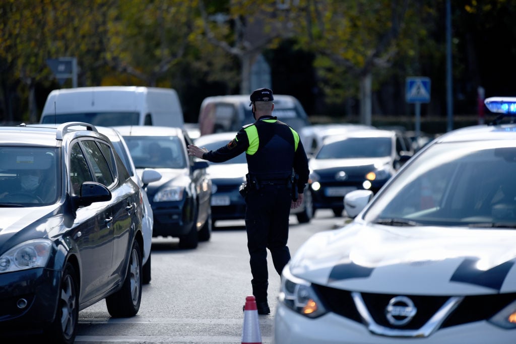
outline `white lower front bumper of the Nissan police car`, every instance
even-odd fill
[[[311,319],[278,302],[274,323],[274,342],[281,344],[509,344],[516,330],[503,330],[485,321],[448,327],[426,338],[383,337],[370,333],[356,321],[334,313]]]

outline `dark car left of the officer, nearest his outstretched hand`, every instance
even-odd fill
[[[154,237],[177,237],[181,248],[196,248],[212,233],[208,163],[188,156],[193,143],[186,129],[163,126],[116,126],[122,134],[138,174],[158,171],[162,178],[147,186]]]

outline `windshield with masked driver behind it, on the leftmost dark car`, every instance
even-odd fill
[[[0,147],[0,206],[43,206],[61,193],[57,148]]]

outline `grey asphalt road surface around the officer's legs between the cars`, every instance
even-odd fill
[[[346,218],[318,210],[309,224],[291,216],[293,254],[312,234],[334,230]],[[79,313],[76,343],[241,343],[242,306],[252,294],[244,221],[219,221],[208,242],[182,250],[179,240],[154,238],[152,281],[143,286],[139,313],[111,319],[105,301]],[[280,277],[269,254],[270,315],[259,316],[262,342],[273,342]],[[248,324],[247,324],[248,325]]]

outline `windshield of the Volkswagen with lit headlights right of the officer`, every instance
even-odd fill
[[[322,145],[316,159],[379,158],[390,156],[391,151],[389,137],[352,137]]]

